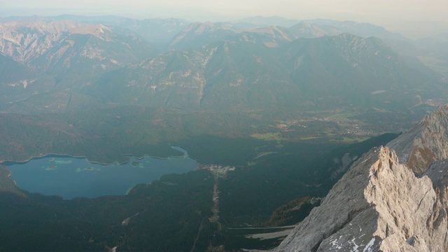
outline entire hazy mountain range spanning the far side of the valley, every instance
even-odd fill
[[[10,63],[4,63],[0,88],[7,98],[0,106],[29,111],[32,95],[36,111],[67,108],[76,93],[85,104],[102,106],[406,109],[446,93],[443,71],[391,50],[380,39],[409,41],[382,27],[256,20],[2,19],[0,60]],[[67,98],[48,99],[47,92]]]

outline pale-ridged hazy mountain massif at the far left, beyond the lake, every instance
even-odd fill
[[[101,24],[9,22],[0,32],[3,55],[52,76],[57,85],[88,85],[106,71],[158,53],[132,31]]]

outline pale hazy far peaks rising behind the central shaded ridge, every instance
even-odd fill
[[[247,19],[250,21],[251,19]],[[257,20],[257,19],[255,19]],[[264,25],[260,25],[264,24]],[[272,25],[274,24],[274,25]],[[387,31],[383,27],[370,25],[368,23],[357,23],[353,21],[335,20],[308,20],[295,21],[293,25],[279,25],[274,20],[265,22],[195,22],[173,37],[169,48],[187,49],[199,48],[207,43],[222,40],[234,40],[239,34],[258,36],[265,40],[265,45],[276,47],[281,43],[293,41],[297,38],[318,38],[322,36],[337,36],[349,33],[363,38],[372,36],[385,41],[409,41],[407,38]],[[270,40],[270,41],[269,41]],[[395,43],[393,43],[395,45]]]

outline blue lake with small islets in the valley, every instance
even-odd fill
[[[47,156],[29,162],[7,162],[11,178],[18,187],[30,193],[74,197],[125,195],[139,183],[151,183],[165,174],[183,174],[197,168],[186,151],[180,158],[158,159],[130,157],[125,164],[100,165],[85,158]]]

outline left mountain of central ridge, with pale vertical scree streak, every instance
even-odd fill
[[[279,83],[286,81],[282,77],[286,74],[281,68],[264,63],[272,57],[260,52],[262,48],[256,45],[228,41],[200,50],[170,51],[110,73],[89,89],[97,88],[106,100],[123,102],[134,98],[133,102],[140,105],[183,109],[271,104],[273,99],[269,98],[276,94],[275,89],[285,88]]]

